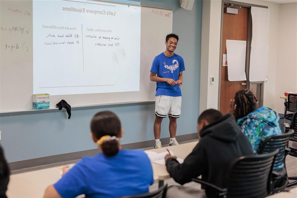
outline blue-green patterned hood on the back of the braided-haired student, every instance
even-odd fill
[[[255,120],[260,121],[261,123],[266,123],[266,125],[269,125],[271,127],[279,126],[279,123],[278,123],[279,116],[278,116],[278,114],[269,107],[262,106],[262,107],[256,109],[255,111],[249,113],[247,116],[245,116],[243,118],[239,118],[237,120],[237,124],[239,126],[241,126],[242,123],[246,119],[255,119]]]

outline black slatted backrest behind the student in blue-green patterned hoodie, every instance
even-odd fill
[[[279,153],[277,153],[273,164],[273,169],[275,171],[279,171],[283,167],[283,163],[285,159],[285,149],[293,133],[294,133],[293,131],[290,131],[284,134],[269,136],[265,139],[265,141],[262,143],[260,147],[259,154],[271,153],[279,149]]]

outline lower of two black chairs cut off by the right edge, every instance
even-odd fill
[[[297,157],[297,112],[295,112],[292,116],[291,125],[288,123],[284,123],[285,125],[285,133],[291,130],[294,131],[292,137],[289,139],[288,147],[291,149],[289,155],[293,157]],[[289,180],[296,180],[288,184],[287,187],[296,186],[297,185],[297,176],[288,177]]]

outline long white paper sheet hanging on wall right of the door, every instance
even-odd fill
[[[269,9],[252,7],[252,44],[249,81],[266,81],[268,69]]]

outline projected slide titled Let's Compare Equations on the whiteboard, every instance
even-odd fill
[[[33,1],[33,91],[139,91],[140,7]]]

